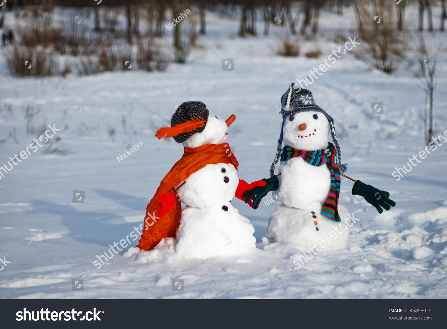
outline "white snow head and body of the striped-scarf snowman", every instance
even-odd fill
[[[284,144],[305,151],[327,148],[328,134],[329,122],[317,111],[297,113],[293,120],[286,118],[283,127]],[[317,167],[296,157],[281,161],[278,171],[279,189],[273,196],[282,204],[270,216],[266,236],[278,243],[304,245],[326,240],[328,249],[345,249],[349,240],[347,226],[320,214],[331,185],[327,165]],[[347,209],[338,204],[338,213],[343,223]],[[346,223],[350,223],[349,217]]]

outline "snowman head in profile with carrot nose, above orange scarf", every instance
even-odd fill
[[[186,139],[183,142],[183,146],[186,148],[198,148],[204,144],[225,143],[228,139],[228,126],[232,123],[232,121],[229,122],[230,118],[225,121],[217,115],[210,113],[205,129]],[[227,122],[229,122],[228,125]]]

